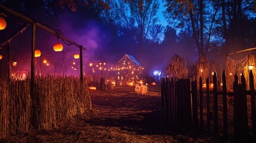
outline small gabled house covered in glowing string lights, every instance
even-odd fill
[[[116,64],[116,85],[135,85],[140,82],[143,69],[134,57],[125,54]]]

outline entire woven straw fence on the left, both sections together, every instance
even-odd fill
[[[36,129],[51,129],[58,120],[83,114],[92,108],[87,81],[75,77],[37,77],[0,81],[0,138]]]

